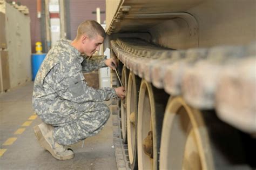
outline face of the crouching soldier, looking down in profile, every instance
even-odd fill
[[[86,56],[92,56],[93,53],[99,51],[100,44],[104,42],[104,38],[100,35],[94,37],[86,37],[83,39],[83,52]]]

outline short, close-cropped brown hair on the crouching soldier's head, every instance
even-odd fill
[[[79,39],[84,33],[86,33],[89,38],[94,37],[97,34],[103,38],[106,37],[106,33],[102,28],[102,25],[93,20],[84,21],[78,26],[76,39]]]

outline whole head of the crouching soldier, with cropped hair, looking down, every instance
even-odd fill
[[[74,42],[79,46],[78,50],[81,53],[92,56],[95,51],[99,51],[100,44],[104,42],[105,37],[105,30],[99,23],[87,20],[78,26]]]

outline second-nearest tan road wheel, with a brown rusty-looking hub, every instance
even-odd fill
[[[142,80],[138,103],[138,167],[158,169],[161,127],[168,95]]]

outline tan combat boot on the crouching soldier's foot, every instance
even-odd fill
[[[52,136],[52,130],[44,134],[43,137],[41,137],[41,134],[46,131],[41,131],[40,126],[35,126],[34,130],[37,138],[39,136],[39,144],[47,151],[49,151],[54,158],[58,160],[67,160],[74,158],[75,154],[71,149],[66,149],[63,145],[59,145],[57,142],[54,141]]]

